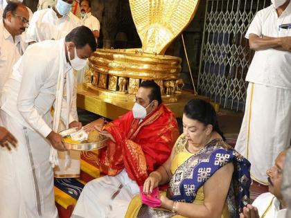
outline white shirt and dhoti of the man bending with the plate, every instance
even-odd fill
[[[51,145],[46,136],[52,130],[50,109],[55,102],[60,60],[65,60],[60,57],[61,49],[64,40],[28,46],[4,85],[1,118],[18,146],[10,153],[0,150],[0,217],[58,217],[49,163]],[[63,64],[64,73],[70,73],[71,66]],[[66,112],[63,100],[63,119]]]

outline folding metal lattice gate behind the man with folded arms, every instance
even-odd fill
[[[254,52],[245,33],[258,10],[270,0],[207,0],[198,93],[222,107],[244,110],[245,76]]]

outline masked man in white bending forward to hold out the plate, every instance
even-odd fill
[[[65,149],[56,131],[60,118],[67,127],[79,125],[69,113],[71,68],[82,68],[95,49],[91,30],[80,26],[65,39],[28,46],[15,64],[3,88],[0,116],[18,146],[9,155],[0,152],[0,217],[58,217],[51,163],[58,164],[55,149]]]

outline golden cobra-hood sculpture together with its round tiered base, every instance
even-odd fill
[[[121,107],[119,111],[131,109],[141,82],[155,80],[164,102],[168,106],[172,104],[170,108],[177,111],[176,116],[182,116],[182,107],[194,96],[189,93],[182,98],[181,59],[164,53],[193,19],[198,3],[199,0],[130,0],[142,48],[98,49],[89,58],[86,75],[93,78],[91,83],[78,87],[78,106],[86,107],[89,102],[98,101],[106,107],[110,104]],[[86,103],[84,95],[89,96],[89,102]],[[104,116],[104,111],[93,108],[91,111]]]

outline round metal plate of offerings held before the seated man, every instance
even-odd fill
[[[60,131],[60,135],[67,149],[90,151],[107,146],[108,138],[100,135],[97,130],[91,130],[87,133],[83,129],[74,127]]]

